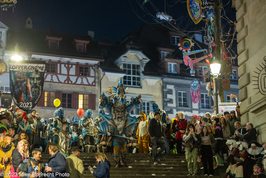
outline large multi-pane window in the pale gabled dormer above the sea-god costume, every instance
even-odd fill
[[[140,86],[140,65],[124,63],[123,71],[126,72],[123,77],[124,85]]]

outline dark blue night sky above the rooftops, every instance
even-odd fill
[[[158,11],[172,15],[173,19],[184,21],[187,29],[202,29],[205,23],[202,21],[194,25],[188,15],[186,1],[166,0],[166,9],[163,0],[151,0]],[[230,2],[230,0],[225,0]],[[223,1],[224,3],[227,3]],[[18,0],[14,13],[12,7],[7,11],[1,11],[2,22],[10,30],[18,31],[30,17],[33,28],[38,30],[50,30],[54,28],[59,33],[86,34],[87,30],[95,31],[95,41],[107,38],[111,41],[119,41],[130,31],[136,31],[145,23],[154,22],[138,5],[143,0]],[[183,2],[183,3],[182,3]],[[150,2],[144,5],[152,14],[157,11],[152,8]],[[172,6],[172,7],[170,7]],[[232,13],[230,4],[227,6],[229,16]],[[134,11],[140,16],[140,19]]]

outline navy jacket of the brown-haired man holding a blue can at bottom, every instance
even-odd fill
[[[59,152],[59,150],[57,150],[53,156],[49,157],[49,160],[48,160],[48,166],[52,168],[52,172],[51,173],[54,173],[53,175],[54,176],[47,176],[47,178],[55,178],[55,177],[60,177],[60,175],[64,175],[65,172],[66,172],[66,159],[64,157],[63,154],[61,154]],[[59,172],[61,174],[55,176],[55,173],[56,172]],[[49,173],[49,172],[47,172]],[[52,175],[52,174],[51,174]],[[65,176],[61,176],[62,178],[64,178]]]

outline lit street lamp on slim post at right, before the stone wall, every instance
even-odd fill
[[[211,68],[211,75],[213,75],[213,89],[214,89],[214,102],[215,102],[215,110],[216,114],[219,114],[219,108],[218,108],[218,90],[217,90],[217,81],[218,81],[218,75],[220,74],[221,64],[215,60],[210,64]]]

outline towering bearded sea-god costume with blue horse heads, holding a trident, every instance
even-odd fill
[[[128,114],[128,108],[130,110],[134,109],[134,103],[138,103],[136,107],[140,106],[141,99],[140,96],[137,102],[125,103],[126,93],[128,88],[126,88],[122,83],[122,78],[118,81],[117,87],[110,87],[109,92],[111,97],[114,99],[114,103],[110,102],[110,105],[106,106],[110,108],[110,114],[100,114],[104,121],[99,122],[97,129],[99,130],[99,135],[103,135],[100,144],[109,144],[109,141],[112,143],[114,149],[114,160],[116,163],[116,168],[119,168],[120,163],[125,165],[125,158],[127,155],[127,139],[134,140],[131,133],[135,128],[135,123],[137,122],[136,117],[131,117]],[[133,100],[131,100],[133,101]],[[134,100],[135,101],[135,100]],[[99,109],[102,109],[102,106]],[[106,139],[106,135],[110,136]],[[111,136],[112,135],[112,136]],[[126,137],[124,137],[125,135]],[[130,138],[129,138],[130,137]],[[106,141],[107,140],[107,141]],[[120,158],[120,152],[121,158]]]

